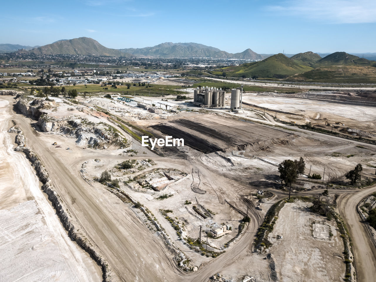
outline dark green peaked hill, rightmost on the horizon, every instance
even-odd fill
[[[364,58],[359,58],[355,55],[347,54],[346,52],[335,52],[318,60],[316,67],[335,66],[335,65],[371,65],[374,61],[368,61]]]

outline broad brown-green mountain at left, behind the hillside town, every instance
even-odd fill
[[[117,49],[109,49],[98,41],[88,38],[80,37],[69,40],[59,40],[52,44],[47,44],[38,48],[34,48],[30,53],[37,55],[58,55],[58,54],[70,54],[70,55],[87,55],[87,56],[110,56],[110,57],[126,57],[129,54],[120,52]]]

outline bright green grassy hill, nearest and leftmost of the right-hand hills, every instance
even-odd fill
[[[312,70],[306,65],[297,64],[282,53],[270,56],[259,62],[230,66],[212,71],[212,74],[221,76],[223,72],[230,77],[265,77],[282,79],[293,74]]]

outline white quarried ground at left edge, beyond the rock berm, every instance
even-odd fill
[[[13,150],[9,102],[0,101],[0,281],[102,281],[102,271],[71,241],[30,162]]]

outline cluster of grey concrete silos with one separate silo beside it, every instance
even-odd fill
[[[230,109],[233,112],[242,112],[241,98],[243,88],[231,90]],[[226,91],[215,87],[197,87],[193,92],[193,105],[203,108],[225,108],[226,107]]]

